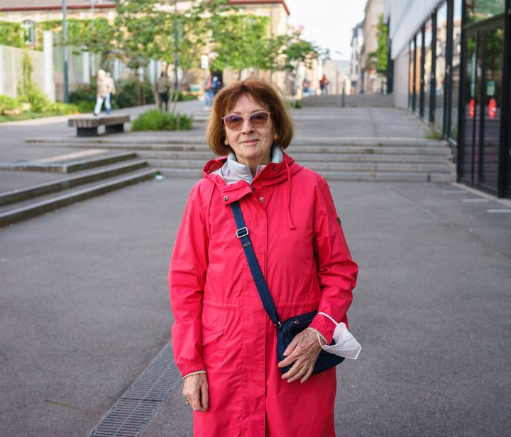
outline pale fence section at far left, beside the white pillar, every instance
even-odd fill
[[[0,94],[9,97],[18,96],[18,85],[23,79],[23,53],[27,53],[32,61],[32,80],[44,89],[44,54],[38,50],[24,50],[16,47],[0,45]],[[43,72],[43,74],[41,74]]]

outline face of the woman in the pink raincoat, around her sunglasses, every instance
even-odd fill
[[[246,164],[255,170],[258,165],[268,164],[270,162],[270,149],[273,140],[276,138],[275,126],[270,116],[270,120],[265,127],[253,127],[249,117],[259,111],[268,112],[268,108],[255,103],[251,96],[243,94],[236,105],[225,115],[236,114],[243,118],[243,126],[240,130],[231,130],[224,124],[229,146],[236,154],[236,159],[242,164]]]

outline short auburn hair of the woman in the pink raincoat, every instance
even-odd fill
[[[233,152],[229,145],[224,144],[226,132],[222,118],[236,106],[236,102],[243,95],[253,98],[255,102],[264,108],[268,108],[277,134],[273,144],[278,145],[282,150],[286,149],[290,145],[295,127],[291,114],[287,109],[285,98],[275,84],[256,77],[233,82],[233,84],[226,86],[216,94],[206,128],[209,148],[218,156]]]

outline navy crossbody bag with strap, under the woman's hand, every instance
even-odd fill
[[[234,220],[236,221],[236,237],[240,239],[241,246],[243,246],[243,251],[245,251],[248,267],[251,270],[255,286],[258,289],[260,300],[263,302],[263,307],[265,308],[266,312],[268,312],[270,320],[273,322],[273,324],[275,324],[275,329],[277,329],[277,356],[278,361],[282,361],[285,358],[284,351],[286,350],[287,346],[289,346],[292,339],[294,339],[297,334],[299,334],[301,331],[307,328],[309,324],[311,324],[312,319],[314,319],[314,316],[317,314],[317,311],[306,312],[304,314],[291,317],[290,319],[285,320],[285,322],[280,322],[277,308],[275,307],[275,303],[273,303],[273,299],[270,295],[270,290],[268,290],[268,285],[266,285],[263,272],[260,269],[257,258],[255,257],[251,239],[248,237],[248,229],[245,225],[243,212],[241,212],[239,203],[237,201],[231,203],[231,209],[234,215]],[[335,342],[332,341],[332,344],[334,343]],[[324,370],[332,368],[341,363],[341,361],[344,361],[343,357],[336,356],[333,353],[328,353],[322,350],[319,353],[316,363],[314,364],[314,371],[312,374],[314,375],[315,373],[320,373]],[[282,373],[286,373],[287,370],[290,370],[291,366],[292,364],[287,365],[284,368],[280,368],[280,370],[282,370]]]

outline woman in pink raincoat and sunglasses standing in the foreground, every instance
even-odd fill
[[[326,181],[282,152],[292,136],[267,81],[237,81],[216,96],[207,138],[227,156],[209,161],[192,188],[169,271],[172,346],[195,436],[335,436],[335,368],[312,370],[336,324],[317,314],[278,361],[230,207],[241,206],[282,320],[318,310],[347,322],[357,266]]]

